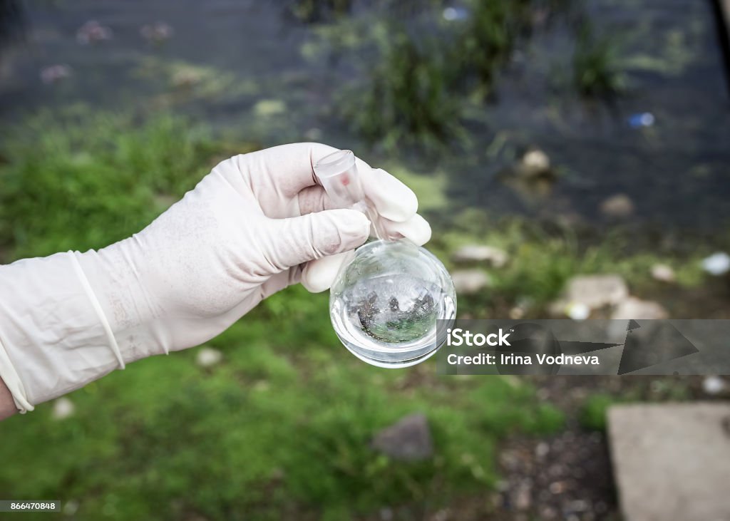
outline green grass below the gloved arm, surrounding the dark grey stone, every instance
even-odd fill
[[[226,357],[217,368],[198,368],[194,351],[144,360],[72,394],[72,418],[39,406],[8,420],[0,488],[78,501],[77,519],[347,518],[490,487],[501,436],[561,425],[505,379],[408,387],[415,370],[364,366],[329,331],[326,299],[299,297],[311,311],[287,328],[264,309],[212,341]],[[429,417],[433,459],[369,448],[410,412]]]

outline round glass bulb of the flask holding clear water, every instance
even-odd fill
[[[361,246],[340,269],[329,311],[350,352],[379,367],[407,367],[433,355],[456,317],[444,265],[407,239]]]

